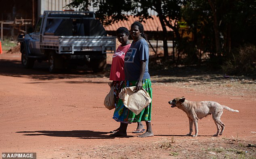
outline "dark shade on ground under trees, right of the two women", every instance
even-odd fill
[[[229,80],[231,82],[239,81],[242,84],[256,84],[256,77],[226,75],[221,70],[212,70],[206,65],[175,66],[168,62],[164,64],[151,62],[149,64],[149,73],[151,75],[151,81],[158,83],[185,82],[193,85],[201,85],[210,82],[224,84]]]

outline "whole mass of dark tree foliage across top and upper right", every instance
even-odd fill
[[[177,58],[183,55],[189,64],[200,63],[203,53],[210,56],[210,65],[232,63],[236,48],[247,43],[256,45],[256,0],[72,0],[69,4],[81,10],[90,5],[97,8],[96,16],[105,25],[127,20],[129,14],[143,21],[152,18],[148,10],[154,10],[165,37],[165,57],[168,57],[168,26],[175,34]],[[187,22],[192,39],[180,35],[181,20]]]

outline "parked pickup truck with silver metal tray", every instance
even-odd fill
[[[74,11],[44,11],[35,31],[18,37],[21,63],[32,68],[36,60],[48,60],[50,72],[85,64],[103,71],[106,53],[115,52],[115,40],[94,12]]]

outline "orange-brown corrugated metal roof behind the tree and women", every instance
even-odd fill
[[[157,16],[152,16],[152,18],[149,18],[145,20],[145,22],[141,22],[144,27],[144,31],[163,31],[160,20]],[[114,24],[111,24],[109,26],[104,26],[106,31],[116,31],[119,27],[126,27],[130,30],[130,27],[133,22],[139,20],[138,17],[133,17],[132,15],[128,17],[128,20],[120,20],[118,22],[115,22]],[[166,26],[167,31],[172,31],[169,27]]]

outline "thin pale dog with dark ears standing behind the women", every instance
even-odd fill
[[[220,116],[223,113],[223,108],[231,112],[239,112],[238,110],[233,110],[228,106],[220,105],[219,103],[214,101],[192,102],[189,100],[185,100],[184,97],[174,98],[168,103],[171,105],[172,108],[177,107],[187,114],[189,118],[189,133],[187,135],[189,136],[193,131],[194,123],[195,135],[193,135],[193,137],[197,137],[198,134],[198,119],[202,119],[212,114],[212,118],[217,126],[217,133],[213,136],[218,137],[218,135],[222,135],[225,128],[225,124],[220,121]]]

